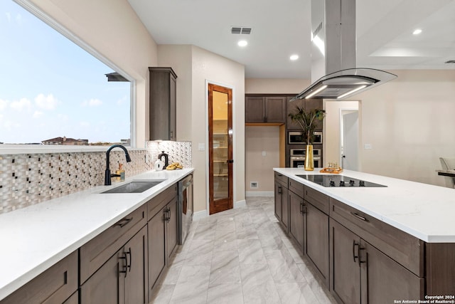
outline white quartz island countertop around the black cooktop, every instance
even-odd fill
[[[296,168],[274,168],[274,171],[427,243],[455,243],[455,189],[349,170],[344,170],[340,175],[387,187],[323,187],[296,176],[323,174],[319,169],[315,168],[311,172]]]

